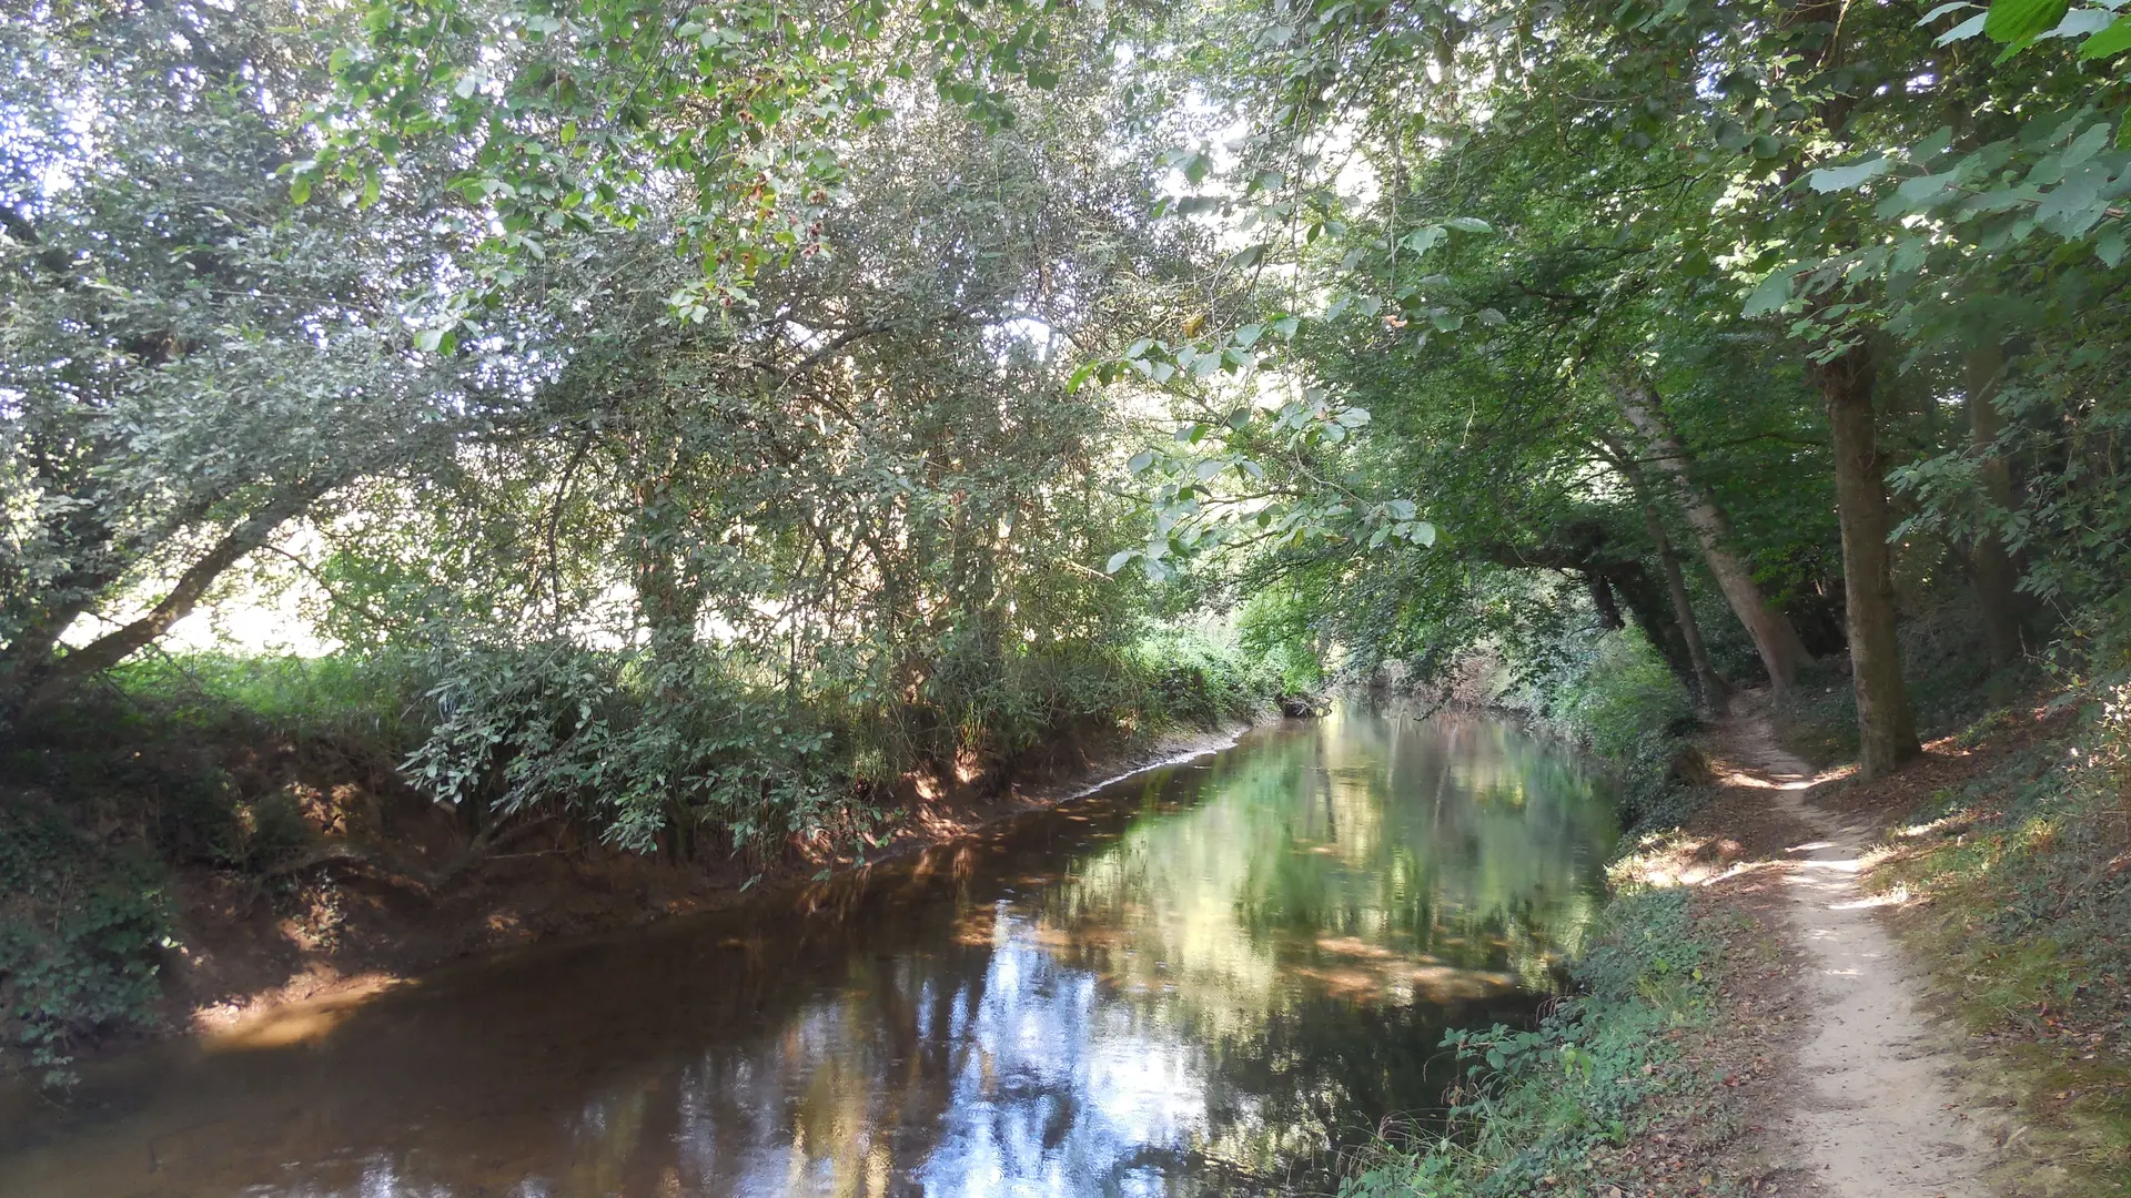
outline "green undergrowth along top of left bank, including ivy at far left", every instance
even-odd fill
[[[942,661],[914,697],[793,699],[710,657],[573,646],[128,663],[0,742],[0,1072],[64,1083],[75,1047],[153,1023],[173,872],[262,887],[349,831],[326,793],[435,802],[469,838],[552,821],[759,868],[793,836],[897,819],[906,772],[974,759],[1004,776],[1055,740],[1270,703],[1279,671],[1221,633]]]

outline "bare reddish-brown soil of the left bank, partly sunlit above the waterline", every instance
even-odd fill
[[[177,942],[164,976],[168,1032],[241,1032],[288,1004],[332,1008],[445,961],[539,940],[718,910],[865,861],[899,857],[985,825],[1055,806],[1121,776],[1234,744],[1247,725],[1142,742],[1074,746],[1023,763],[1008,780],[918,787],[889,836],[863,857],[799,846],[778,861],[671,861],[573,840],[558,827],[465,859],[443,816],[401,819],[390,840],[337,810],[373,795],[322,795],[309,814],[326,836],[266,878],[226,870],[177,876]],[[343,831],[347,825],[354,833]],[[107,1045],[115,1047],[115,1045]]]

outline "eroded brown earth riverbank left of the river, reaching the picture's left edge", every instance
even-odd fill
[[[448,961],[718,910],[1215,752],[1249,727],[1225,721],[1059,738],[1048,752],[1029,755],[1004,774],[914,784],[910,802],[869,833],[793,844],[767,861],[624,853],[556,821],[535,823],[475,861],[465,829],[388,774],[262,744],[232,755],[307,799],[294,808],[300,827],[264,829],[286,836],[288,848],[262,855],[256,868],[158,865],[124,848],[75,863],[96,836],[119,838],[121,829],[77,827],[79,812],[62,812],[34,789],[4,787],[0,816],[21,836],[4,838],[0,865],[26,876],[47,861],[75,865],[96,893],[111,895],[96,906],[124,914],[117,932],[128,932],[126,944],[139,940],[143,951],[132,951],[132,959],[109,953],[100,976],[81,987],[26,991],[19,1010],[0,1013],[0,1023],[19,1030],[11,1030],[17,1059],[0,1066],[64,1083],[83,1053],[185,1034],[241,1034],[292,1004],[362,1002]],[[264,838],[258,825],[247,831]],[[126,891],[128,883],[141,891]],[[153,921],[143,912],[153,912]],[[109,914],[102,919],[113,923]],[[141,957],[153,968],[143,968]],[[40,1040],[34,1002],[51,1013],[51,1025],[102,1021],[102,1027]]]

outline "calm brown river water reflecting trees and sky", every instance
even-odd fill
[[[1323,1194],[1528,1019],[1611,812],[1492,721],[1334,714],[801,893],[0,1100],[0,1196]]]

